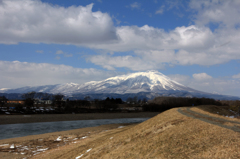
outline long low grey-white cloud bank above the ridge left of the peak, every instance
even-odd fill
[[[0,88],[18,88],[69,82],[82,84],[117,75],[116,72],[93,68],[82,69],[67,65],[19,61],[0,61],[0,68]]]

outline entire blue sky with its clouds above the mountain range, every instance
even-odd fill
[[[0,0],[0,88],[158,70],[240,96],[238,0]]]

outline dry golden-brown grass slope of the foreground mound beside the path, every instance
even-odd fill
[[[65,159],[82,154],[81,159],[240,158],[239,132],[187,117],[177,110],[168,110],[135,126],[92,135],[77,144],[52,149],[34,158]],[[192,110],[213,115],[197,107]]]

